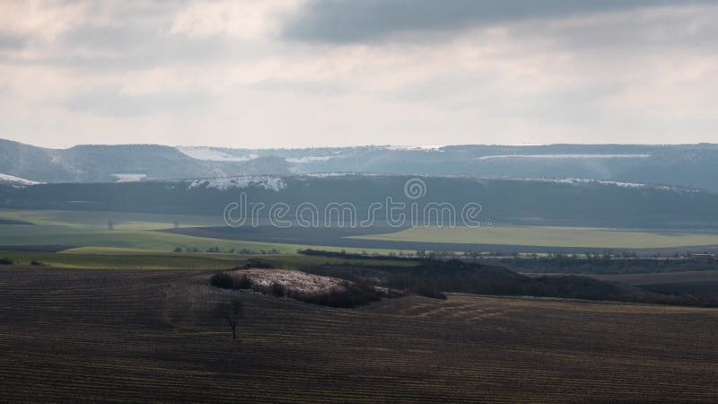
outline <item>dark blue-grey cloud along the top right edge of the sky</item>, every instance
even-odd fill
[[[454,31],[532,18],[631,10],[713,0],[318,0],[285,27],[285,38],[343,43],[404,31]]]

